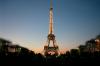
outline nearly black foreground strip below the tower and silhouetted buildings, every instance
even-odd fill
[[[69,53],[59,56],[41,54],[2,54],[0,56],[2,65],[100,65],[100,52],[95,53]]]

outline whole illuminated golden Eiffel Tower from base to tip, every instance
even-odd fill
[[[55,54],[58,55],[58,46],[56,44],[54,30],[53,30],[53,7],[52,7],[52,0],[50,2],[50,14],[49,14],[49,34],[47,36],[47,44],[44,46],[44,55],[47,56],[48,54]],[[52,46],[50,46],[52,44]]]

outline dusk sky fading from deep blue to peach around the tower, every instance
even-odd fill
[[[50,0],[0,0],[0,37],[42,51],[49,31]],[[77,48],[100,34],[100,0],[53,0],[60,50]]]

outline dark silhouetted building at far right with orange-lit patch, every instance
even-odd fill
[[[80,52],[98,52],[100,51],[100,40],[99,39],[91,39],[86,41],[85,45],[80,45],[78,47]]]

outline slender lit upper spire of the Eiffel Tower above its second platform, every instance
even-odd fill
[[[53,34],[53,7],[52,7],[52,0],[50,0],[49,34]]]

